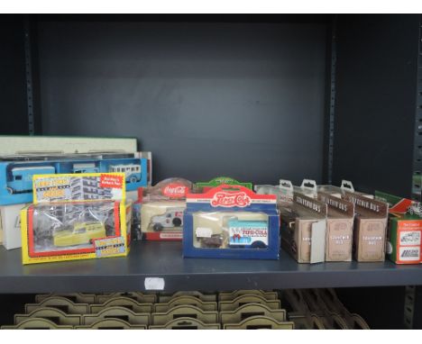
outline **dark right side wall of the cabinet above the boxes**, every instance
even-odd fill
[[[419,15],[340,15],[334,183],[410,197]]]

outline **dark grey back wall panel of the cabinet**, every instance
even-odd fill
[[[153,152],[155,181],[321,182],[326,31],[41,22],[42,132],[137,137]]]

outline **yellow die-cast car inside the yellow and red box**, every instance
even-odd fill
[[[105,225],[102,222],[77,223],[73,230],[58,231],[53,235],[54,246],[74,246],[90,244],[92,240],[105,238]]]

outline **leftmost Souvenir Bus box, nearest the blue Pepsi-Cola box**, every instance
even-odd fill
[[[281,245],[298,263],[325,260],[326,212],[325,203],[298,193],[280,206]]]

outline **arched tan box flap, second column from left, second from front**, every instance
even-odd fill
[[[85,325],[92,325],[96,321],[103,319],[120,319],[132,325],[149,325],[151,322],[150,313],[133,312],[129,308],[122,306],[111,306],[95,314],[86,314],[82,316]]]

